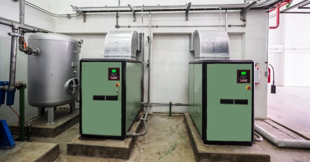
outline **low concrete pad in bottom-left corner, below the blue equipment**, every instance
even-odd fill
[[[16,142],[10,150],[0,150],[0,161],[52,162],[59,157],[59,144],[39,142]]]

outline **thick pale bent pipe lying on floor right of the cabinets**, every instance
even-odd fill
[[[288,148],[305,148],[310,149],[310,140],[300,139],[280,139],[269,133],[267,130],[255,124],[255,131],[272,142],[277,147],[288,147]]]

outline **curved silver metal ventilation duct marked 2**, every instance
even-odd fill
[[[110,31],[105,37],[106,59],[136,60],[137,51],[140,51],[140,39],[136,31]]]

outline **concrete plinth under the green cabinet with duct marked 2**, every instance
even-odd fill
[[[137,133],[141,129],[141,126],[140,121],[135,121],[129,132]],[[111,140],[80,138],[80,135],[78,135],[67,143],[67,154],[128,160],[136,141],[137,137],[126,137],[124,140]]]

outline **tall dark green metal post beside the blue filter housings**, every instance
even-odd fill
[[[25,138],[25,87],[20,87],[20,142]]]

